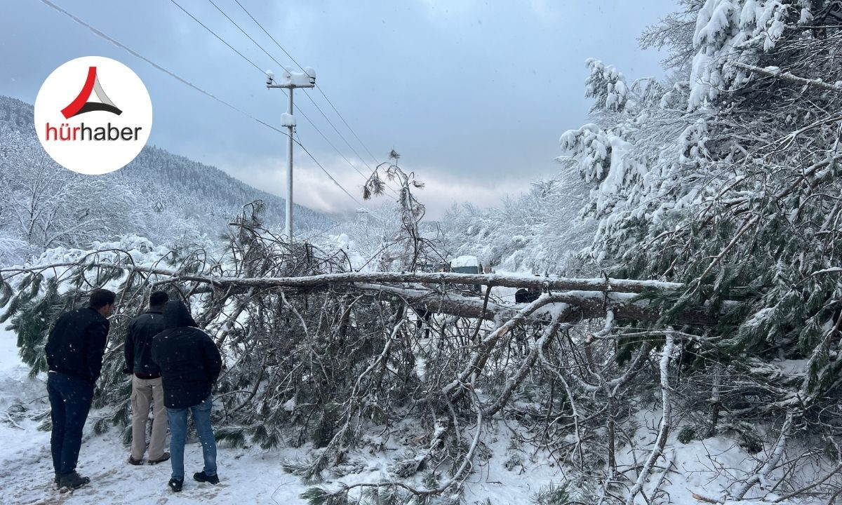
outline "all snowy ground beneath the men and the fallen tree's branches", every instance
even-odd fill
[[[220,444],[218,463],[221,484],[199,484],[189,479],[193,471],[201,469],[201,450],[192,439],[185,451],[185,470],[188,480],[178,494],[167,487],[169,464],[132,466],[126,463],[128,448],[120,442],[120,434],[111,429],[94,435],[91,427],[98,412],[88,416],[78,470],[91,477],[91,484],[76,492],[62,494],[52,483],[50,433],[39,431],[40,421],[33,419],[49,410],[45,391],[45,375],[29,377],[29,368],[21,363],[12,332],[0,330],[0,503],[194,503],[213,500],[219,503],[305,503],[299,496],[307,489],[298,477],[286,473],[284,460],[301,460],[307,448],[280,448],[264,451],[258,448],[235,449]],[[641,412],[637,433],[632,439],[638,449],[623,447],[618,452],[622,468],[640,464],[651,450],[658,424],[659,412]],[[677,431],[677,430],[676,430]],[[360,452],[354,460],[353,474],[328,476],[326,486],[338,481],[347,484],[386,480],[389,460],[401,453],[400,446],[411,446],[396,427],[386,444],[386,454]],[[406,434],[406,433],[404,433]],[[550,482],[562,482],[564,472],[552,460],[542,458],[532,449],[511,449],[510,432],[501,426],[487,431],[483,443],[493,455],[481,462],[466,483],[464,502],[484,503],[486,498],[497,504],[530,503],[532,495]],[[708,497],[722,497],[727,483],[750,470],[754,460],[733,439],[715,437],[681,444],[670,437],[667,455],[674,461],[663,489],[669,492],[669,502],[695,503],[693,493]],[[513,465],[512,460],[520,460]],[[506,464],[512,470],[507,470]],[[354,466],[354,465],[350,465]],[[660,467],[663,469],[663,466]],[[718,469],[719,471],[712,471]],[[658,480],[653,472],[652,481]],[[744,474],[743,474],[744,475]],[[647,486],[651,486],[651,483]],[[758,490],[759,491],[759,490]],[[773,495],[774,496],[774,495]],[[768,498],[768,497],[767,497]]]

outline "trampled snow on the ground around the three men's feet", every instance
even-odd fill
[[[0,331],[0,503],[193,503],[213,499],[219,503],[303,503],[298,495],[306,486],[285,474],[280,461],[295,457],[300,449],[264,452],[253,449],[219,448],[219,486],[185,481],[184,491],[167,487],[169,464],[132,466],[126,463],[128,448],[119,433],[110,430],[93,435],[88,424],[79,455],[78,471],[91,477],[91,484],[61,494],[52,483],[50,432],[39,431],[29,418],[49,409],[45,376],[29,378],[29,369],[18,358],[15,336]],[[26,415],[15,415],[23,406]],[[9,416],[13,417],[10,420]],[[201,449],[193,440],[185,450],[184,468],[189,475],[201,470]]]

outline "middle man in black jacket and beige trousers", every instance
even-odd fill
[[[125,373],[131,376],[131,455],[129,464],[142,465],[147,449],[149,406],[152,412],[152,437],[149,439],[149,465],[169,459],[164,452],[167,438],[167,409],[163,406],[161,369],[152,361],[152,337],[163,332],[163,306],[169,297],[163,291],[149,295],[149,310],[129,323],[125,337]]]

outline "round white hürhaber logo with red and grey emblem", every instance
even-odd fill
[[[73,172],[114,172],[135,159],[152,130],[152,100],[131,68],[103,56],[59,66],[35,98],[45,151]]]

